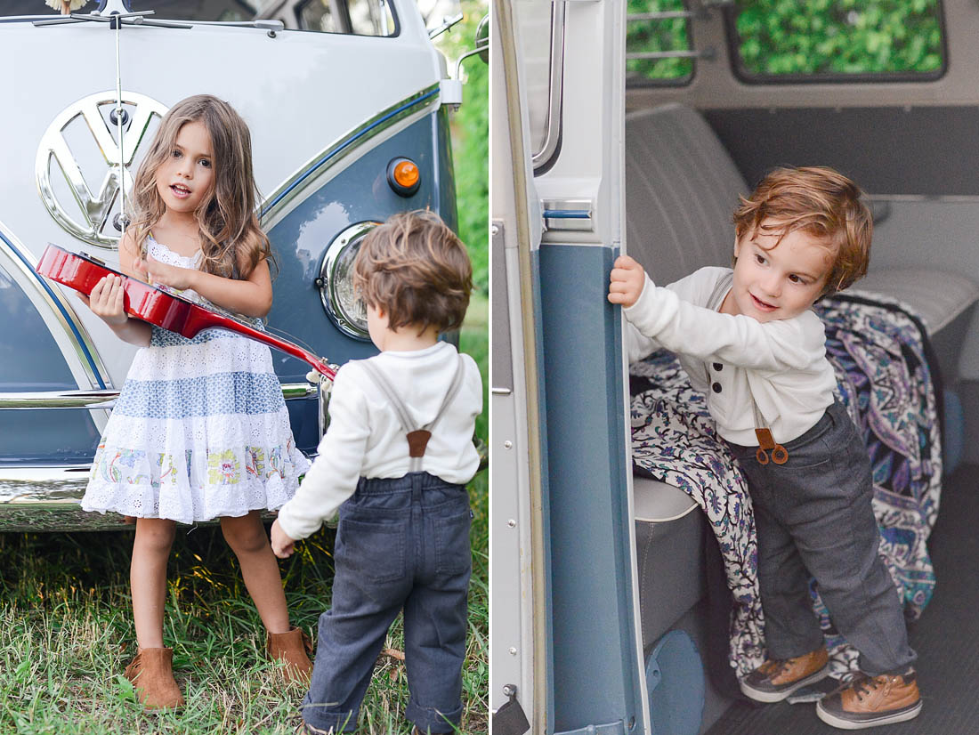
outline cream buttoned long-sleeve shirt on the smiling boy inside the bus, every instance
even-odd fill
[[[815,426],[833,403],[836,377],[825,331],[810,310],[763,323],[706,308],[730,272],[701,268],[667,287],[647,275],[639,299],[623,309],[629,362],[660,345],[673,350],[693,387],[707,396],[723,438],[758,445],[754,396],[771,436],[784,444]]]

